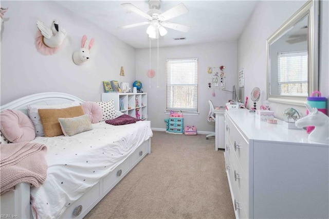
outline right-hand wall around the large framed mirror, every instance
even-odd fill
[[[306,1],[260,1],[238,42],[238,69],[245,67],[244,96],[249,96],[253,87],[261,89],[258,105],[266,99],[266,40]],[[328,71],[328,26],[329,2],[320,2],[320,42],[319,42],[319,90],[323,97],[329,97]],[[249,107],[251,101],[249,98]],[[293,106],[293,105],[291,105]],[[270,103],[275,117],[282,119],[282,112],[290,107],[287,104]],[[305,107],[293,106],[305,112]],[[328,104],[327,104],[328,108]]]

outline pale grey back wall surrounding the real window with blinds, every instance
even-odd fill
[[[156,41],[152,42],[156,45]],[[166,129],[164,119],[169,115],[166,111],[166,60],[180,58],[198,58],[198,115],[184,115],[184,126],[195,125],[202,132],[213,132],[214,123],[207,122],[209,112],[208,100],[215,106],[223,106],[231,99],[232,94],[219,88],[208,89],[208,67],[226,67],[226,89],[232,90],[237,77],[237,42],[207,43],[190,46],[175,46],[159,48],[159,72],[157,72],[157,49],[151,50],[151,68],[156,70],[156,76],[147,77],[150,68],[149,49],[136,49],[136,79],[143,83],[144,92],[148,93],[148,113],[151,126],[154,129]],[[157,83],[159,81],[159,83]],[[159,84],[159,87],[157,85]]]

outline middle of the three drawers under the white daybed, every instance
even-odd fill
[[[111,190],[130,169],[129,158],[125,159],[118,167],[103,179],[103,192]]]

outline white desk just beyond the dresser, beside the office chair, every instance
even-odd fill
[[[215,150],[225,149],[225,109],[215,109]]]

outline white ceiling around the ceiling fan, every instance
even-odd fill
[[[258,1],[168,1],[161,0],[160,11],[163,13],[178,3],[184,3],[189,12],[169,22],[191,26],[189,32],[169,29],[165,36],[160,36],[159,46],[190,45],[239,39],[246,22]],[[134,48],[149,48],[146,33],[148,25],[121,29],[120,26],[147,21],[136,13],[127,13],[122,3],[132,3],[144,12],[149,10],[148,1],[58,1],[72,13],[84,17],[108,33],[117,36]],[[186,38],[175,41],[174,38]],[[151,42],[156,45],[156,40]]]

